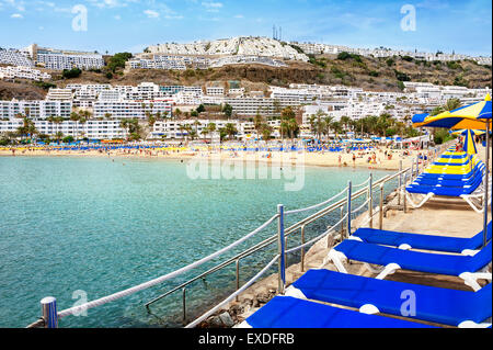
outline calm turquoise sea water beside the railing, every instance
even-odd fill
[[[387,173],[374,171],[376,178]],[[192,180],[186,163],[172,160],[0,157],[0,327],[35,321],[48,295],[60,311],[80,301],[77,291],[95,300],[174,271],[250,233],[278,203],[286,210],[312,205],[368,174],[306,168],[303,190],[286,192],[284,180]],[[313,225],[308,236],[331,221],[336,216]],[[272,225],[233,252],[275,232]],[[241,262],[242,283],[274,250]],[[153,315],[144,304],[195,273],[90,309],[87,317],[66,317],[60,327],[180,325],[180,292],[154,304]],[[187,290],[188,314],[233,289],[234,266],[196,282]]]

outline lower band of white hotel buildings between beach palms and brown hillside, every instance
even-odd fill
[[[150,115],[161,118],[153,124],[147,135],[150,139],[183,139],[187,137],[185,126],[197,132],[198,137],[217,137],[204,133],[205,127],[215,123],[217,129],[231,123],[238,129],[237,137],[245,138],[255,134],[253,117],[262,115],[273,127],[273,136],[279,136],[280,112],[286,106],[299,111],[302,118],[301,135],[310,136],[310,118],[319,112],[339,121],[342,116],[358,120],[368,115],[388,113],[392,117],[406,121],[426,108],[438,106],[451,98],[465,103],[480,101],[490,89],[468,89],[465,87],[442,87],[423,82],[404,82],[403,92],[364,91],[360,88],[342,86],[296,84],[289,88],[270,87],[268,91],[248,91],[245,88],[223,82],[209,82],[204,87],[159,86],[142,82],[133,86],[68,84],[62,89],[50,89],[45,100],[0,101],[0,133],[13,132],[22,125],[22,117],[35,121],[39,133],[93,139],[114,139],[126,136],[121,127],[124,118],[138,118],[141,123]],[[176,109],[192,111],[199,104],[232,106],[230,120],[188,118],[176,120]],[[87,110],[91,113],[84,124],[70,121],[73,111]],[[51,123],[47,118],[61,116],[62,122]],[[198,124],[196,123],[198,120]]]

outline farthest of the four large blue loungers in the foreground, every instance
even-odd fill
[[[492,223],[486,227],[486,240],[492,237]],[[367,244],[399,247],[400,249],[424,249],[435,251],[473,255],[483,245],[483,230],[471,238],[432,236],[382,230],[376,228],[358,228],[353,239]]]

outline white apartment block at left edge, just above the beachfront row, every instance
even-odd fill
[[[49,116],[70,117],[72,101],[0,101],[0,118],[13,120],[25,115],[32,120],[43,120]]]

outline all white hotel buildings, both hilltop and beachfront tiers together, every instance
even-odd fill
[[[193,44],[161,44],[148,47],[127,63],[129,69],[206,69],[237,64],[261,64],[274,67],[286,66],[287,60],[307,61],[306,54],[337,54],[341,52],[374,57],[393,55],[411,56],[425,60],[474,59],[479,64],[491,65],[491,57],[469,57],[465,55],[409,53],[402,50],[354,49],[345,46],[283,43],[265,37],[234,37]],[[69,52],[38,47],[36,44],[23,49],[0,48],[0,79],[49,80],[50,76],[34,67],[62,70],[100,69],[104,67],[102,55],[94,53]],[[256,115],[272,126],[273,136],[279,136],[279,115],[285,108],[293,108],[297,114],[301,135],[310,136],[310,121],[322,113],[334,121],[347,116],[352,120],[369,115],[390,116],[408,122],[415,113],[428,112],[443,105],[449,99],[463,103],[480,101],[490,89],[468,89],[465,87],[443,87],[428,82],[404,82],[402,92],[365,91],[344,86],[318,86],[291,83],[289,88],[265,87],[265,91],[254,91],[240,81],[210,81],[204,86],[160,86],[141,82],[138,86],[83,84],[70,83],[64,88],[49,89],[44,100],[0,101],[0,133],[14,132],[22,126],[23,117],[34,121],[42,134],[76,138],[114,139],[126,137],[121,127],[125,118],[137,118],[142,125],[149,116],[157,122],[146,136],[151,139],[183,139],[187,137],[184,127],[192,127],[198,137],[208,135],[206,126],[215,123],[217,128],[231,123],[238,129],[237,137],[244,138],[255,134],[253,118]],[[205,105],[207,113],[193,118],[179,118],[191,115],[198,105]],[[232,115],[228,121],[220,111],[230,105]],[[177,110],[183,113],[176,113]],[[89,112],[84,123],[70,121],[72,112]],[[209,111],[211,111],[209,113]],[[181,114],[181,115],[180,115]],[[50,117],[61,117],[50,122]],[[219,120],[222,118],[222,120]],[[146,127],[148,128],[148,127]]]

